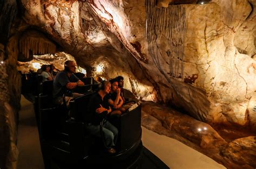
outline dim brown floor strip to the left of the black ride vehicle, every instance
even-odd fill
[[[39,143],[33,103],[21,97],[21,110],[18,124],[18,169],[43,169],[44,162]]]

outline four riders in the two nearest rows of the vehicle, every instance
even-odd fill
[[[57,104],[63,104],[63,95],[67,89],[75,89],[78,86],[84,86],[84,83],[77,78],[76,65],[73,61],[66,61],[64,71],[57,73],[53,80],[53,100]],[[119,117],[128,107],[124,105],[124,78],[117,76],[110,81],[102,81],[99,84],[99,90],[90,98],[87,111],[91,114],[92,122],[86,129],[95,136],[100,137],[100,122],[104,119],[103,136],[109,153],[116,153],[114,146],[117,142],[118,129],[107,119],[111,116]],[[82,96],[83,94],[72,93],[71,96],[65,96],[68,105],[71,98]]]

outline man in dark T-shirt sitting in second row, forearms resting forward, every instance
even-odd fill
[[[80,81],[76,75],[76,65],[73,61],[65,61],[64,71],[57,73],[53,80],[53,102],[56,104],[63,104],[63,94],[66,90],[75,89],[77,86],[84,86],[84,82]],[[66,96],[65,101],[69,105],[71,98],[82,96],[79,93],[72,93],[71,96]]]

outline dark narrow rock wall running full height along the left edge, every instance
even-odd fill
[[[18,9],[14,0],[0,3],[0,168],[17,168],[17,123],[21,76],[17,72],[17,36],[11,29]]]

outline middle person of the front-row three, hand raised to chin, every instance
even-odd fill
[[[111,108],[114,110],[114,112],[111,113],[111,115],[117,114],[121,115],[122,112],[125,112],[125,108],[123,107],[123,99],[120,96],[120,88],[118,88],[118,81],[117,79],[111,79],[111,91],[110,91],[110,98],[109,98],[109,104],[111,105]]]

